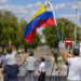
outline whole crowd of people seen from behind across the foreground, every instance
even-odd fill
[[[69,54],[65,49],[62,49],[63,60],[68,64],[68,81],[81,80],[81,57],[79,57],[79,49],[75,49],[73,54]],[[21,62],[16,62],[15,55],[21,55]],[[67,57],[66,57],[67,56]],[[18,81],[17,75],[19,67],[25,63],[26,80],[35,81],[35,69],[37,58],[30,52],[29,56],[25,59],[21,51],[14,52],[12,48],[6,48],[6,54],[0,52],[0,81]],[[38,73],[38,81],[45,81],[45,58],[40,57],[40,66]]]

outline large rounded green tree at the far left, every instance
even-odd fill
[[[21,27],[18,18],[9,11],[0,12],[0,41],[2,46],[8,45],[9,41],[12,41],[13,45],[21,42]]]

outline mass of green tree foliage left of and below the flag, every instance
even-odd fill
[[[15,46],[37,46],[41,43],[40,35],[36,35],[36,39],[31,43],[27,43],[24,38],[24,31],[26,29],[27,22],[22,18],[18,18],[11,12],[0,11],[0,43],[2,46],[9,44],[9,41],[12,42],[12,45]]]

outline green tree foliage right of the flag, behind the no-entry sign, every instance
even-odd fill
[[[58,18],[57,19],[57,27],[59,30],[60,38],[63,36],[63,28],[64,28],[64,39],[65,38],[75,39],[75,36],[73,36],[73,33],[75,33],[73,31],[75,31],[75,27],[76,27],[75,23],[72,23],[66,18]],[[78,38],[77,41],[78,42],[80,41],[79,33],[80,33],[80,29],[78,27],[78,33],[77,33],[77,38]],[[57,48],[59,40],[58,40],[58,35],[57,35],[57,30],[56,30],[55,26],[45,27],[43,29],[43,35],[45,37],[45,42],[51,48]]]

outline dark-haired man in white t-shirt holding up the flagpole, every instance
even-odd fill
[[[80,81],[81,80],[81,57],[79,57],[79,49],[73,50],[73,55],[69,54],[66,50],[62,50],[63,59],[68,63],[68,80]],[[65,54],[69,57],[66,58]]]

